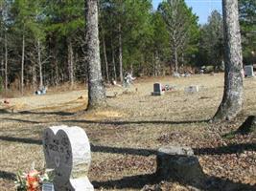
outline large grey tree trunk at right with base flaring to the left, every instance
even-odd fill
[[[238,1],[222,0],[225,76],[221,105],[213,121],[229,120],[237,116],[243,104],[243,59],[239,26]]]

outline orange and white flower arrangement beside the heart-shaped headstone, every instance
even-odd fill
[[[54,169],[39,172],[33,167],[29,173],[18,172],[14,183],[17,191],[40,191],[43,183],[51,183],[53,180]]]

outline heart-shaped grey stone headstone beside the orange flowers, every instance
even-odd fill
[[[55,190],[92,191],[87,178],[91,162],[90,143],[80,127],[47,128],[43,134],[46,167],[55,170]]]

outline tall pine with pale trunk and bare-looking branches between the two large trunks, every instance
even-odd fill
[[[175,64],[175,72],[178,71],[179,55],[184,52],[191,37],[196,33],[198,17],[187,7],[184,0],[167,0],[159,5],[170,35],[170,47]],[[172,66],[170,66],[172,68]]]

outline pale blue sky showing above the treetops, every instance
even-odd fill
[[[212,11],[217,10],[222,13],[221,0],[185,0],[188,7],[193,9],[199,17],[199,24],[207,23],[208,16]],[[156,10],[162,0],[152,0],[153,9]]]

